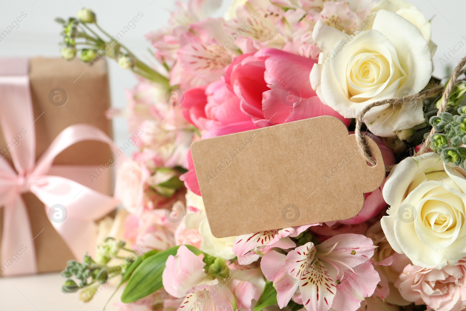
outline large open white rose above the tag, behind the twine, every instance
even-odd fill
[[[413,95],[432,76],[432,58],[419,29],[400,15],[379,10],[372,29],[346,35],[318,21],[312,34],[322,50],[310,81],[320,100],[353,118],[367,105]],[[377,136],[393,136],[424,122],[422,102],[394,110],[375,107],[364,122]]]

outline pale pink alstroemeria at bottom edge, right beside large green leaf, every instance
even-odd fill
[[[169,256],[162,274],[164,289],[182,298],[178,311],[250,311],[251,300],[260,296],[265,282],[259,269],[234,271],[219,280],[204,272],[206,264],[186,246]]]

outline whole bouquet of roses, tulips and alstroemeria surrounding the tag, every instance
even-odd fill
[[[69,262],[62,290],[89,301],[121,276],[122,310],[463,310],[466,59],[432,77],[430,21],[405,0],[234,0],[212,18],[217,7],[178,3],[147,35],[152,64],[89,9],[57,19],[64,58],[108,56],[140,78],[109,112],[138,147],[117,175],[124,238]],[[322,115],[382,150],[387,177],[362,211],[214,237],[191,143]]]

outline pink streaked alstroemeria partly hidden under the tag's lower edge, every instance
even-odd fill
[[[238,257],[238,263],[249,264],[259,259],[273,247],[291,249],[296,246],[290,237],[298,236],[307,228],[315,225],[305,225],[280,230],[267,230],[248,235],[238,235],[233,241],[233,253]]]

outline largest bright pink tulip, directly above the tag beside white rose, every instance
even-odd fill
[[[315,60],[275,48],[241,55],[226,69],[226,82],[241,99],[241,110],[264,127],[323,115],[343,118],[322,104],[309,87]]]

